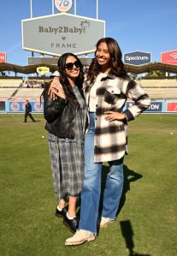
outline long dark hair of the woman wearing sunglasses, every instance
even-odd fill
[[[72,99],[72,100],[76,101],[74,92],[72,90],[72,86],[70,85],[70,83],[68,81],[68,76],[65,71],[66,60],[69,56],[75,57],[76,60],[79,61],[79,63],[80,63],[80,74],[75,79],[75,86],[78,86],[78,88],[80,90],[80,94],[84,98],[84,93],[82,91],[82,86],[83,86],[83,82],[84,82],[84,71],[83,71],[83,65],[80,62],[80,59],[77,56],[75,56],[73,53],[67,52],[67,53],[62,54],[62,56],[58,59],[57,65],[58,65],[58,71],[60,73],[60,82],[62,84],[62,87],[66,94],[66,97],[68,99]],[[44,94],[46,92],[48,92],[49,87],[50,87],[50,83],[48,83],[46,86],[44,86],[44,91],[41,94],[41,97],[44,96]]]

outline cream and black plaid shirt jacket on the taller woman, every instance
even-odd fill
[[[94,162],[107,162],[120,159],[127,153],[127,122],[139,116],[150,105],[150,98],[145,91],[132,79],[115,77],[114,74],[98,74],[95,81],[96,122],[94,137]],[[84,83],[83,89],[86,104],[89,105],[91,84]],[[123,111],[127,98],[134,101]],[[109,122],[105,120],[105,111],[123,112],[125,121]]]

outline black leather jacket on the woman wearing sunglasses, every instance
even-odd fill
[[[50,98],[44,94],[44,118],[47,121],[45,129],[59,138],[74,138],[74,116],[78,104],[72,100],[57,97]]]

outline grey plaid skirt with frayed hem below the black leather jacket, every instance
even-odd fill
[[[57,199],[77,196],[84,181],[84,142],[49,134],[50,164]]]

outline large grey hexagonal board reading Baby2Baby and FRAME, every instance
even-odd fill
[[[97,40],[105,36],[105,21],[63,12],[23,20],[21,24],[23,49],[58,57],[65,52],[94,52]]]

